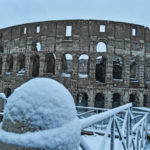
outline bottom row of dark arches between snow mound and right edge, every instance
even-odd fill
[[[121,101],[122,101],[122,95],[119,93],[114,93],[112,95],[112,108],[120,106]],[[132,102],[133,106],[137,106],[138,102],[139,102],[137,95],[134,93],[130,94],[129,102]],[[146,102],[144,101],[143,105],[145,103]],[[77,95],[77,105],[78,106],[88,106],[88,95],[86,93],[83,92],[83,93],[79,93]],[[103,93],[97,93],[95,95],[94,107],[97,107],[97,108],[104,108],[105,107],[105,95]]]

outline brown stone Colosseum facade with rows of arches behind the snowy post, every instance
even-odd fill
[[[58,20],[0,29],[0,92],[35,77],[63,83],[80,106],[150,107],[150,30],[104,20]]]

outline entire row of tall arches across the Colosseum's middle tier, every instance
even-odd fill
[[[40,56],[38,54],[33,55],[31,58],[31,70],[32,76],[36,77],[39,75],[40,68]],[[44,73],[52,73],[55,74],[55,61],[56,56],[53,53],[48,53],[45,55],[44,59]],[[73,56],[70,53],[66,53],[62,56],[62,66],[61,72],[62,75],[70,77],[73,71]],[[0,57],[0,74],[2,73],[2,64],[3,59]],[[24,54],[19,54],[17,57],[17,66],[16,70],[19,74],[25,72],[25,64],[26,57]],[[87,54],[81,54],[78,58],[78,75],[81,78],[87,78],[89,74],[89,66],[90,66],[90,57]],[[9,54],[6,59],[6,73],[10,74],[13,71],[14,67],[14,58],[13,55]],[[95,78],[97,81],[105,83],[106,78],[106,68],[107,68],[107,58],[105,56],[98,56],[95,60]],[[113,79],[122,79],[123,78],[123,69],[124,62],[121,56],[114,56],[113,59]],[[150,77],[150,69],[146,69],[146,78]],[[137,62],[135,59],[131,59],[130,61],[130,80],[137,79]]]

